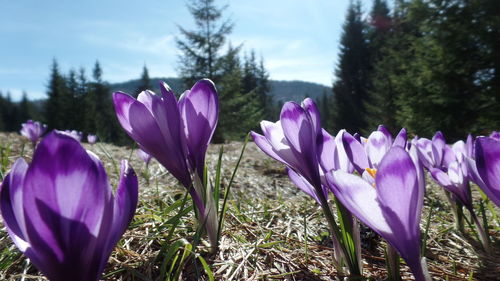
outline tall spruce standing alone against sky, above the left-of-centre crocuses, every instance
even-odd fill
[[[184,37],[177,38],[177,47],[182,52],[179,60],[180,77],[186,87],[191,87],[202,78],[209,78],[218,85],[222,67],[220,52],[233,23],[222,20],[224,8],[215,6],[214,0],[191,0],[188,9],[193,15],[196,29],[190,31],[179,26]]]

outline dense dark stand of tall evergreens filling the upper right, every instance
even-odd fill
[[[332,130],[368,133],[378,124],[450,140],[500,125],[500,14],[496,0],[352,2],[343,26]]]

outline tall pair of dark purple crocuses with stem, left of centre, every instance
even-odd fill
[[[217,210],[205,186],[205,153],[215,131],[219,102],[215,85],[198,81],[179,101],[165,83],[161,96],[147,90],[137,99],[116,92],[113,103],[118,120],[139,148],[155,157],[189,191],[209,240],[217,245]]]

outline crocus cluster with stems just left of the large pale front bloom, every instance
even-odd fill
[[[349,169],[342,144],[337,144],[332,136],[321,128],[319,110],[312,99],[307,98],[299,105],[287,102],[283,105],[280,120],[275,123],[262,121],[264,135],[252,132],[255,144],[267,155],[287,166],[290,179],[306,194],[314,198],[322,207],[327,218],[338,265],[347,263],[353,275],[361,274],[359,231],[356,222],[346,213],[343,228],[351,241],[355,241],[353,251],[342,239],[328,203],[328,185],[324,174],[330,169]],[[319,145],[320,144],[320,145]]]

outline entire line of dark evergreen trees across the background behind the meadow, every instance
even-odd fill
[[[219,92],[214,141],[241,139],[260,120],[276,120],[280,104],[269,95],[269,72],[254,50],[229,36],[234,27],[215,0],[187,4],[195,27],[179,27],[178,75],[184,89],[209,78]],[[351,2],[343,25],[332,92],[317,104],[323,126],[367,134],[378,124],[406,127],[420,136],[442,130],[450,140],[500,128],[500,20],[496,0],[373,0],[369,13]],[[333,58],[332,58],[333,59]],[[49,128],[97,134],[130,143],[120,130],[109,84],[96,62],[62,74],[51,66],[47,99],[14,103],[0,93],[0,130],[17,131],[34,118]],[[136,95],[151,89],[144,66]],[[180,94],[180,93],[177,93]],[[306,95],[306,93],[304,93]]]

